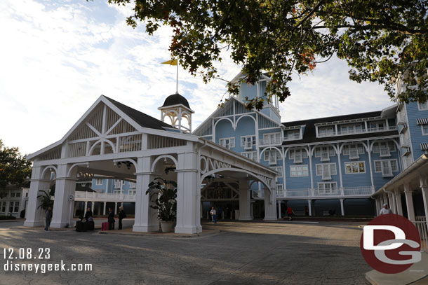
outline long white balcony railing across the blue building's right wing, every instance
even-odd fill
[[[318,188],[301,188],[301,189],[287,189],[276,190],[277,198],[290,198],[290,199],[313,199],[320,197],[369,197],[375,193],[372,186],[361,187],[345,187],[330,189],[328,193],[320,191]]]

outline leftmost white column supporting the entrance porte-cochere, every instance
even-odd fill
[[[44,210],[39,208],[41,204],[38,195],[42,195],[41,190],[49,191],[50,180],[40,179],[42,167],[33,167],[32,169],[32,179],[29,185],[28,192],[28,205],[25,210],[25,222],[26,227],[38,227],[44,225]],[[8,206],[8,205],[6,205]],[[6,207],[8,211],[8,207]]]

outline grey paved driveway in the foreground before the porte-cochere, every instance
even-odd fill
[[[91,263],[93,271],[4,272],[2,258],[0,284],[368,284],[358,225],[206,223],[191,238],[4,228],[1,248],[50,248],[50,260],[34,263]]]

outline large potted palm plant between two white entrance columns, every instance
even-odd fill
[[[150,205],[150,207],[158,210],[162,232],[170,232],[173,229],[177,213],[177,183],[157,177],[149,183],[146,195],[156,197],[153,201],[154,205]]]

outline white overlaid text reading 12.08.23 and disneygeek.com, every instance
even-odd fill
[[[5,272],[34,272],[34,273],[46,273],[46,272],[58,272],[58,271],[92,271],[91,263],[64,263],[63,260],[60,263],[28,263],[29,260],[48,260],[51,258],[51,249],[39,248],[33,249],[4,249],[4,264]],[[19,261],[18,261],[19,260]],[[26,262],[27,261],[27,262]]]

